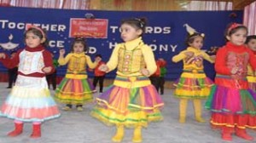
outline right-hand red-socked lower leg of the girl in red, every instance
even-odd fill
[[[247,134],[246,124],[248,120],[248,115],[238,115],[238,123],[236,126],[236,135],[245,140],[253,140],[253,137]]]

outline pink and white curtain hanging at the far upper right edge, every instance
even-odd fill
[[[248,28],[248,35],[256,35],[256,2],[245,7],[243,24]]]

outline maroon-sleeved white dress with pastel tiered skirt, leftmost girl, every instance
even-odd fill
[[[43,46],[20,50],[13,59],[1,60],[7,67],[18,66],[15,86],[1,107],[0,116],[21,122],[44,122],[61,114],[51,97],[44,67],[51,66],[52,58]]]

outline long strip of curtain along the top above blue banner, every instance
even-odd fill
[[[0,6],[122,11],[231,10],[232,1],[191,0],[0,0]]]

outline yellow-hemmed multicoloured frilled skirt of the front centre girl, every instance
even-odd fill
[[[163,119],[160,108],[164,103],[148,77],[116,77],[96,102],[91,115],[107,125],[146,127]]]

